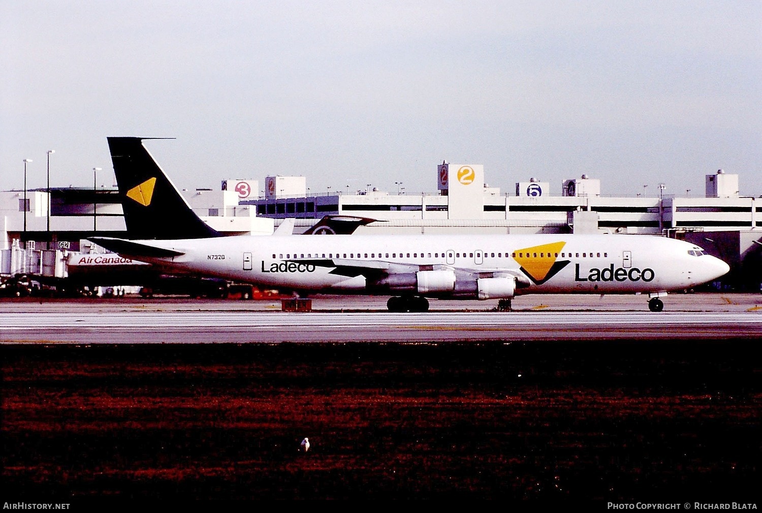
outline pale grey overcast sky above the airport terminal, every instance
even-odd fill
[[[0,190],[114,183],[107,136],[181,188],[762,194],[762,2],[0,2]],[[347,185],[349,186],[347,188]]]

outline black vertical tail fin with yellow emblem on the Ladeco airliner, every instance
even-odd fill
[[[145,146],[149,137],[108,137],[129,239],[223,236],[200,220]]]

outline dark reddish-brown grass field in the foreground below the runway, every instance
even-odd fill
[[[758,342],[5,345],[4,500],[744,502]]]

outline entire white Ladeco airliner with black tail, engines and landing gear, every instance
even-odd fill
[[[507,309],[511,298],[530,293],[642,293],[658,312],[669,291],[729,270],[696,245],[660,236],[219,236],[203,228],[142,139],[108,141],[128,230],[150,225],[155,235],[91,240],[167,272],[305,294],[389,295],[392,312],[427,311],[427,297],[499,300]]]

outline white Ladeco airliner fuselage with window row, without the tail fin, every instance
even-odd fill
[[[135,242],[183,253],[135,257],[168,270],[326,293],[475,297],[479,279],[511,279],[516,284],[513,291],[486,293],[480,299],[526,293],[658,293],[695,287],[728,271],[724,262],[693,244],[656,236],[232,236]],[[412,278],[419,272],[433,273],[429,277],[437,284],[421,290],[421,275]],[[400,278],[408,274],[410,280]]]

